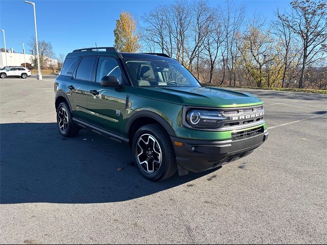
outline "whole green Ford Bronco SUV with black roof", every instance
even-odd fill
[[[268,137],[260,99],[204,87],[165,54],[75,50],[55,92],[62,135],[88,129],[129,144],[139,171],[153,181],[237,160]]]

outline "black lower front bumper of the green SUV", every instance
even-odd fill
[[[200,172],[221,166],[250,154],[268,138],[268,131],[240,140],[208,141],[171,136],[179,173]],[[175,145],[175,141],[182,146]]]

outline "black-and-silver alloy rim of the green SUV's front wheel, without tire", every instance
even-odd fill
[[[150,134],[143,134],[136,143],[136,160],[144,171],[154,174],[161,166],[161,148]]]

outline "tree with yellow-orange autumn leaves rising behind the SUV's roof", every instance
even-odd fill
[[[128,12],[122,12],[116,20],[114,46],[121,52],[135,53],[139,49],[136,21]]]

